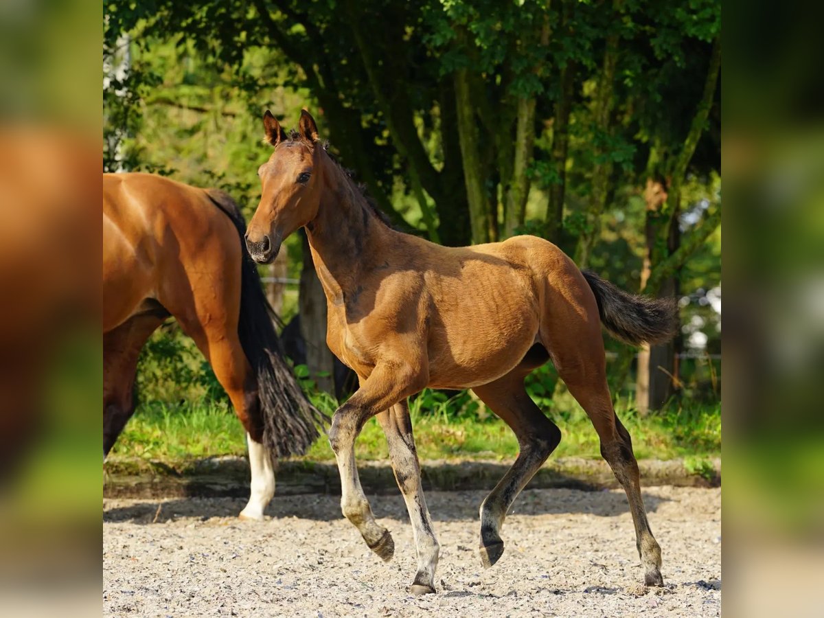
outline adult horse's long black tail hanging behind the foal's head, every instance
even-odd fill
[[[232,220],[241,242],[241,315],[237,335],[255,372],[264,445],[272,456],[302,455],[320,435],[316,424],[328,423],[329,419],[307,400],[283,360],[283,349],[274,330],[274,311],[260,287],[255,262],[243,244],[246,222],[240,208],[222,191],[212,189],[206,194]]]

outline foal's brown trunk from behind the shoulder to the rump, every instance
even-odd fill
[[[503,375],[541,342],[550,318],[563,323],[578,315],[597,325],[580,270],[544,239],[444,247],[404,236],[394,247],[397,297],[408,292],[406,283],[421,298],[430,386],[466,388]]]

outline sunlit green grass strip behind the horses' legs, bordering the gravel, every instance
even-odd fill
[[[449,400],[445,396],[434,397],[439,393],[432,395],[424,399],[428,404],[425,408],[416,401],[410,406],[415,442],[422,460],[499,459],[517,455],[517,440],[503,421],[488,411],[477,410],[479,406],[465,395]],[[334,404],[328,398],[315,403],[327,412],[334,411]],[[458,404],[461,408],[456,412]],[[691,458],[690,461],[702,461],[720,454],[719,404],[672,403],[645,419],[625,404],[617,405],[616,411],[632,435],[634,452],[639,459],[684,456]],[[571,398],[565,400],[564,396],[559,396],[553,402],[549,416],[563,434],[553,456],[600,456],[597,434],[586,414]],[[138,408],[113,454],[163,461],[243,455],[246,453],[245,435],[232,410],[223,402],[179,405],[153,402]],[[386,459],[386,440],[375,419],[363,428],[356,454],[363,461]],[[313,444],[303,458],[334,461],[325,437]]]

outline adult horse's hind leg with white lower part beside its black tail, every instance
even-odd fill
[[[266,506],[274,497],[274,466],[269,450],[263,445],[257,384],[237,337],[236,321],[232,324],[227,320],[230,322],[227,324],[216,320],[218,315],[225,315],[225,311],[215,311],[211,321],[203,321],[204,325],[185,317],[179,318],[179,321],[212,365],[215,377],[232,400],[237,417],[246,428],[251,483],[249,502],[240,517],[261,521]]]

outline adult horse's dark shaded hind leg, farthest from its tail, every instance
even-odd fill
[[[103,456],[115,446],[134,412],[134,374],[138,356],[162,317],[133,316],[103,335]]]

